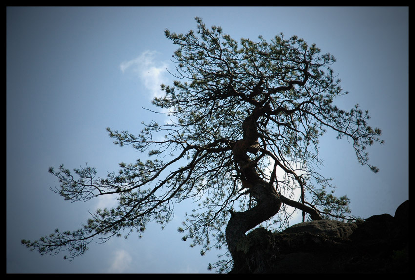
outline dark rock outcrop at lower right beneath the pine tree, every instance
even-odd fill
[[[408,200],[389,214],[343,223],[316,220],[239,241],[232,273],[407,273]]]

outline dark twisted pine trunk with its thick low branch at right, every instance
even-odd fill
[[[225,236],[235,266],[238,263],[236,250],[238,241],[245,236],[247,231],[276,215],[281,203],[309,213],[313,220],[322,219],[315,209],[280,195],[272,183],[262,180],[256,171],[257,162],[251,160],[247,154],[247,152],[257,153],[259,151],[257,120],[270,111],[269,105],[256,107],[242,124],[243,138],[236,141],[232,147],[234,160],[239,166],[242,185],[249,189],[257,202],[247,211],[230,212],[231,218],[227,224]]]

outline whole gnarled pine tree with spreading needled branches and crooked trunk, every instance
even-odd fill
[[[175,203],[194,200],[196,209],[178,230],[202,254],[227,248],[232,258],[210,266],[227,271],[247,231],[289,226],[288,206],[301,210],[303,220],[353,219],[348,198],[336,197],[331,179],[318,172],[319,138],[337,132],[377,172],[366,147],[382,143],[381,130],[368,125],[358,105],[345,111],[333,104],[347,94],[331,68],[335,58],[297,36],[238,42],[196,21],[197,30],[187,34],[165,30],[178,47],[177,80],[161,85],[164,96],[153,100],[166,122],[146,123],[138,134],[107,128],[115,144],[131,145],[149,160],[120,163],[104,178],[89,166],[49,169],[60,182],[53,190],[65,200],[117,195],[118,205],[97,209],[78,230],[23,244],[41,254],[68,250],[72,259],[94,239],[141,236],[152,221],[164,227]]]

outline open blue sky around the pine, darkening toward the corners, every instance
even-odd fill
[[[149,225],[142,239],[91,244],[69,263],[64,253],[39,256],[20,244],[55,228],[74,230],[88,210],[111,200],[70,203],[51,192],[47,170],[88,163],[104,177],[119,162],[145,158],[117,147],[106,127],[139,132],[160,117],[151,99],[171,84],[174,45],[163,31],[222,26],[235,39],[270,40],[297,35],[337,58],[332,68],[349,95],[336,100],[369,110],[385,144],[369,149],[374,174],[359,165],[347,140],[327,133],[320,141],[321,173],[333,177],[352,214],[367,218],[394,211],[408,199],[407,7],[8,7],[7,16],[7,272],[8,273],[207,273],[217,251],[200,256],[177,232],[191,205],[177,205],[161,231]]]

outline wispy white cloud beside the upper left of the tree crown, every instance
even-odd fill
[[[145,51],[137,58],[120,64],[120,70],[123,73],[131,71],[138,76],[145,88],[149,90],[150,99],[162,95],[160,85],[166,83],[166,74],[168,74],[167,63],[157,61],[156,55],[156,51]]]

